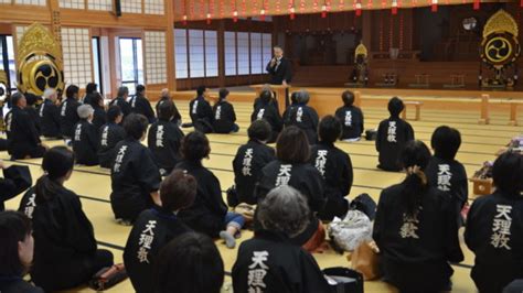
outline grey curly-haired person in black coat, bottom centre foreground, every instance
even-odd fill
[[[295,188],[282,185],[267,194],[257,207],[262,229],[239,246],[234,292],[332,292],[314,258],[290,240],[307,229],[309,215],[307,198]],[[257,283],[250,282],[255,271]]]

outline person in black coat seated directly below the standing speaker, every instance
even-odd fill
[[[268,143],[274,143],[278,138],[284,122],[281,116],[279,116],[277,108],[271,104],[273,93],[269,90],[263,90],[259,95],[258,107],[254,109],[254,112],[250,115],[250,122],[256,120],[265,120],[270,124],[271,135]]]

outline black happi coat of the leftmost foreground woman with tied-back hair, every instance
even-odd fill
[[[28,208],[31,206],[33,209]],[[96,239],[74,192],[60,187],[53,198],[44,200],[35,197],[31,188],[19,210],[33,221],[34,260],[30,273],[38,286],[58,291],[81,285],[92,278]]]

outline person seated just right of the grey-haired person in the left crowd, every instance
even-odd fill
[[[126,131],[120,127],[124,115],[120,107],[111,106],[107,110],[107,123],[99,129],[98,162],[100,167],[110,169],[116,156],[116,144],[126,138]]]

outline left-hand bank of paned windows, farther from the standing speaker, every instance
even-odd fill
[[[217,77],[217,32],[174,29],[177,78]]]

